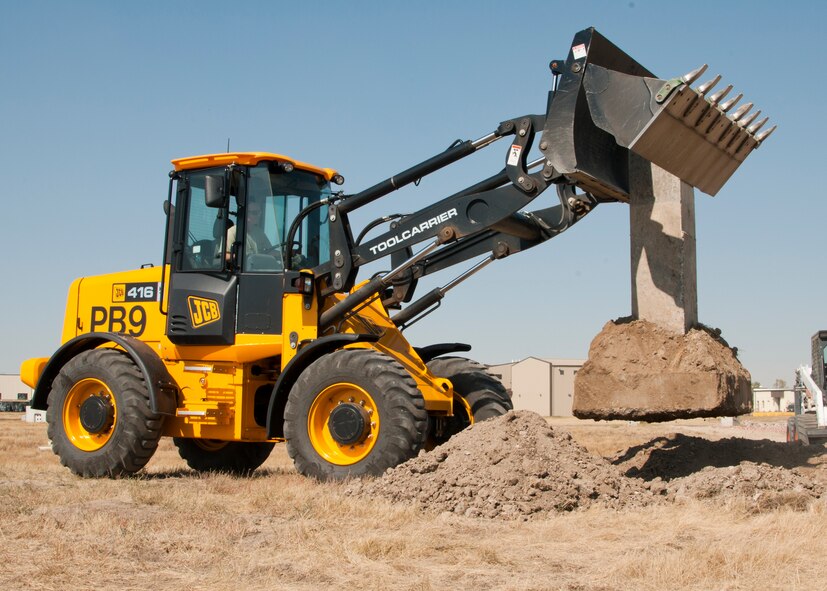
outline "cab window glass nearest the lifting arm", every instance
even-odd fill
[[[250,168],[247,184],[247,226],[251,242],[266,249],[287,252],[287,233],[301,210],[311,203],[330,196],[330,185],[322,177],[300,170],[286,173],[272,162],[261,162]],[[259,252],[265,250],[255,247]],[[245,256],[246,271],[271,270],[257,268],[257,258],[250,248]],[[281,254],[279,253],[279,254]],[[330,257],[327,208],[320,207],[304,218],[293,237],[292,268],[316,267]],[[280,269],[279,269],[280,270]]]

